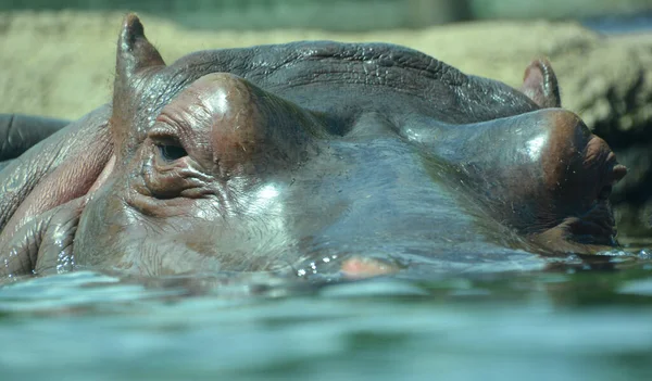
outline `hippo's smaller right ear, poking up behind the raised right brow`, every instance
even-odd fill
[[[556,76],[546,59],[536,60],[527,66],[521,91],[542,109],[562,106]]]

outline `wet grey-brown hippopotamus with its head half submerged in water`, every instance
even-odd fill
[[[0,173],[0,275],[512,271],[617,245],[626,168],[546,60],[519,89],[386,43],[168,65],[134,14],[116,55],[109,104],[3,116],[26,138],[2,157],[28,150]]]

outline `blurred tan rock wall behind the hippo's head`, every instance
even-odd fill
[[[123,14],[0,13],[0,113],[76,118],[111,98]],[[564,106],[604,137],[630,168],[614,201],[622,227],[652,236],[652,34],[603,37],[575,23],[484,22],[423,30],[337,34],[315,30],[199,31],[141,15],[172,62],[201,49],[302,39],[404,45],[459,67],[519,86],[528,63],[548,58]]]

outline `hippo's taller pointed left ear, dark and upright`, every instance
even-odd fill
[[[145,29],[138,16],[130,13],[123,21],[117,40],[116,82],[124,84],[138,71],[150,66],[164,66],[165,62],[145,37]]]

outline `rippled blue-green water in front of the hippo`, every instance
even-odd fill
[[[651,380],[652,261],[287,283],[79,271],[0,288],[2,380]]]

